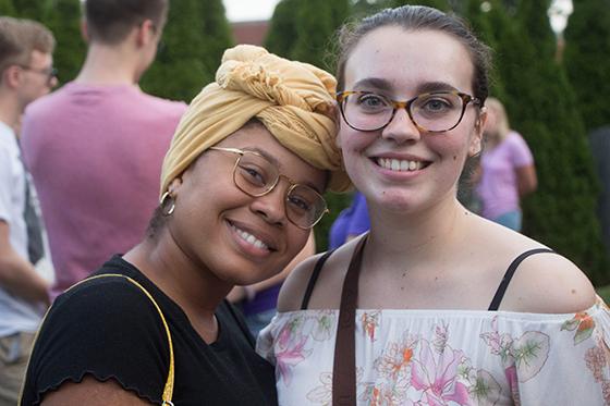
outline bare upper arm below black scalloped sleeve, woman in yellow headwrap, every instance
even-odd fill
[[[125,391],[113,379],[100,382],[93,377],[85,377],[81,383],[62,383],[57,391],[45,395],[41,405],[146,406],[151,403],[138,397],[134,392]]]

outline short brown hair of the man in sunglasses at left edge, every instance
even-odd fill
[[[42,24],[0,16],[0,74],[10,65],[28,65],[32,51],[52,53],[56,39]]]

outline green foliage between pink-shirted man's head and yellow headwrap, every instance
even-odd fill
[[[173,1],[157,59],[143,77],[142,87],[190,102],[213,81],[222,52],[232,44],[220,0]]]

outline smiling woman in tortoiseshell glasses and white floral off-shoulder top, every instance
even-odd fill
[[[285,282],[258,342],[280,405],[610,404],[610,317],[590,282],[456,199],[481,148],[488,48],[411,5],[340,46],[338,143],[370,232]]]

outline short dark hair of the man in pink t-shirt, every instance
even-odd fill
[[[115,45],[146,20],[161,29],[168,7],[169,0],[85,0],[84,15],[89,38]]]

